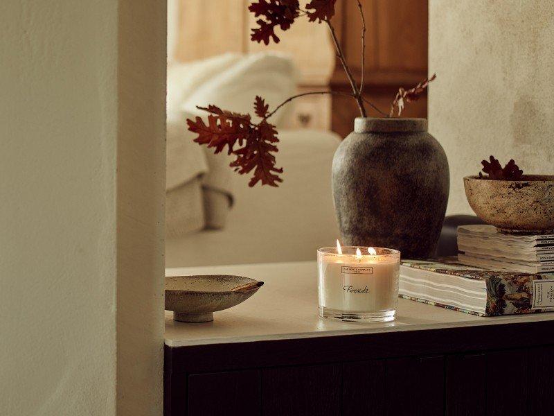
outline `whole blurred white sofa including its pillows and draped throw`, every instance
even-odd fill
[[[196,105],[252,112],[253,98],[260,95],[276,107],[296,92],[295,74],[292,60],[279,53],[227,53],[168,67],[167,190],[179,193],[167,200],[172,238],[166,240],[166,266],[307,260],[315,259],[317,248],[334,245],[330,173],[337,135],[285,130],[291,109],[284,107],[271,123],[279,132],[276,159],[285,182],[249,188],[250,175],[232,173],[225,155],[212,157],[186,129],[186,117],[206,116]],[[223,227],[187,234],[204,225]]]

